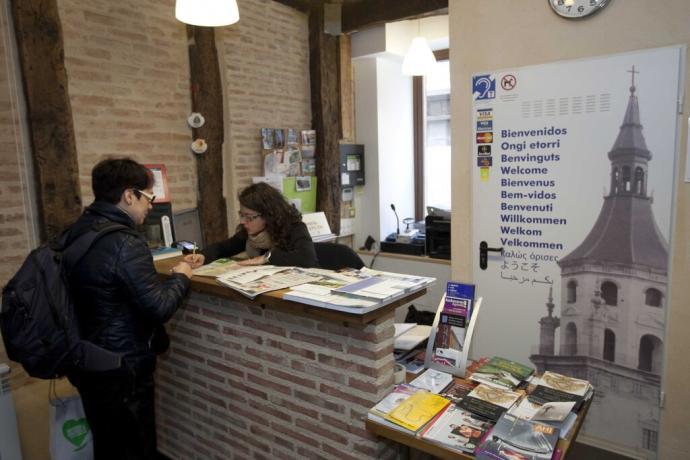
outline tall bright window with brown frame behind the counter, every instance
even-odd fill
[[[414,77],[415,218],[426,207],[450,209],[450,62],[436,51],[436,65]]]

